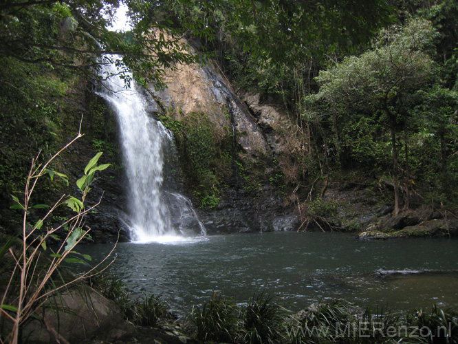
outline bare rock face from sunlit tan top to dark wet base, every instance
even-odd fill
[[[207,233],[297,229],[298,216],[290,215],[291,209],[283,209],[279,191],[269,182],[279,171],[274,153],[282,149],[281,141],[273,136],[270,140],[266,133],[279,129],[280,114],[268,108],[259,118],[253,116],[246,102],[212,66],[180,65],[167,71],[164,81],[166,89],[155,91],[151,87],[149,92],[175,120],[204,114],[215,131],[232,133],[232,158],[239,166],[232,161],[232,178],[224,181],[226,188],[220,188],[219,204],[210,210],[197,210]],[[244,178],[252,178],[251,189],[244,188]]]

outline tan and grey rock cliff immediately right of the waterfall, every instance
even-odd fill
[[[169,125],[171,121],[186,123],[196,116],[206,118],[213,133],[213,144],[221,145],[218,153],[231,160],[225,166],[229,170],[226,173],[219,171],[219,164],[210,166],[210,173],[216,179],[211,187],[217,189],[217,202],[211,206],[200,202],[197,211],[208,233],[297,228],[299,218],[293,214],[294,209],[284,206],[281,193],[284,182],[279,180],[283,173],[278,160],[290,153],[285,152],[287,116],[272,106],[262,105],[257,95],[244,96],[244,100],[237,96],[216,65],[179,65],[166,72],[164,81],[167,88],[162,91],[149,88],[159,105],[156,108],[162,109],[162,114],[157,116],[164,119],[166,114],[165,125],[167,121]],[[180,131],[179,135],[187,133]],[[226,141],[230,140],[226,148],[218,142],[224,136]],[[178,147],[182,155],[194,153],[189,151],[187,142],[186,138],[177,140],[178,146],[185,146]],[[188,163],[186,156],[180,156],[180,161]],[[205,191],[193,189],[193,178],[189,176],[192,172],[186,175],[186,167],[184,170],[188,194],[199,206],[199,197],[195,195]]]

